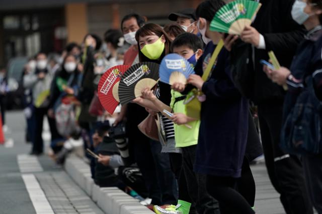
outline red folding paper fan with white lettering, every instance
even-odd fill
[[[107,70],[101,77],[97,93],[104,109],[113,114],[120,103],[118,86],[121,76],[129,69],[129,65],[118,65]]]

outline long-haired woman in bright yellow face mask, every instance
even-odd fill
[[[170,53],[171,40],[167,33],[158,25],[146,24],[137,31],[135,38],[138,41],[140,62],[154,62],[159,64],[164,56]],[[191,201],[189,193],[187,192],[187,185],[185,182],[183,182],[185,179],[180,179],[182,157],[181,150],[176,148],[174,123],[170,119],[163,116],[157,107],[160,103],[170,106],[171,87],[168,84],[158,82],[154,91],[156,99],[151,100],[149,94],[151,94],[152,91],[145,89],[142,92],[143,96],[135,99],[134,101],[139,105],[150,109],[150,111],[156,112],[160,116],[160,126],[164,127],[166,130],[166,144],[162,145],[161,152],[169,154],[172,171],[178,180],[179,199]],[[175,192],[177,190],[177,185],[174,184],[172,189],[173,192]],[[177,203],[177,201],[172,201],[171,204],[174,203]]]

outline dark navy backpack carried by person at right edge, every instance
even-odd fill
[[[322,153],[322,105],[317,99],[312,77],[297,97],[282,127],[280,147],[291,154]]]

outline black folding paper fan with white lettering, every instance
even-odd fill
[[[159,79],[159,65],[143,62],[133,65],[121,78],[119,97],[121,104],[127,104],[137,97],[145,88],[153,88]]]

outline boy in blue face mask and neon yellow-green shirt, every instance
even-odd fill
[[[184,57],[193,67],[203,54],[201,39],[190,33],[179,35],[173,41],[171,47],[173,53]],[[192,206],[189,213],[219,213],[218,202],[207,193],[205,182],[206,176],[193,171],[193,164],[196,159],[200,120],[187,116],[183,103],[186,96],[174,90],[171,91],[171,95],[170,107],[174,112],[172,119],[175,123],[176,147],[182,149],[183,159],[181,173],[184,173],[189,195],[196,208],[194,209],[194,206]],[[192,128],[189,129],[183,124],[189,124]],[[179,201],[179,203],[180,202],[181,201]],[[155,206],[154,209],[157,210],[157,213],[167,213],[159,206]]]

